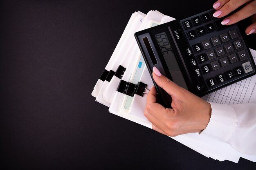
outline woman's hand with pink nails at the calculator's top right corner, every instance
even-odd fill
[[[245,33],[247,35],[256,33],[256,0],[218,0],[213,4],[213,8],[217,10],[213,16],[217,18],[224,17],[243,4],[246,4],[245,7],[228,16],[221,23],[222,25],[230,25],[251,17],[252,24],[247,27]]]

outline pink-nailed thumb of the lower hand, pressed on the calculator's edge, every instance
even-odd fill
[[[164,91],[166,91],[169,95],[171,96],[181,96],[182,95],[182,90],[180,86],[175,84],[173,81],[165,77],[160,73],[160,71],[156,68],[153,67],[153,78],[156,82],[156,84],[163,88]]]

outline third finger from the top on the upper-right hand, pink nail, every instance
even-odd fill
[[[230,15],[229,17],[225,18],[221,24],[222,25],[230,25],[234,24],[240,20],[248,18],[256,13],[256,1],[253,1],[243,7],[241,10],[237,11],[236,13]]]

